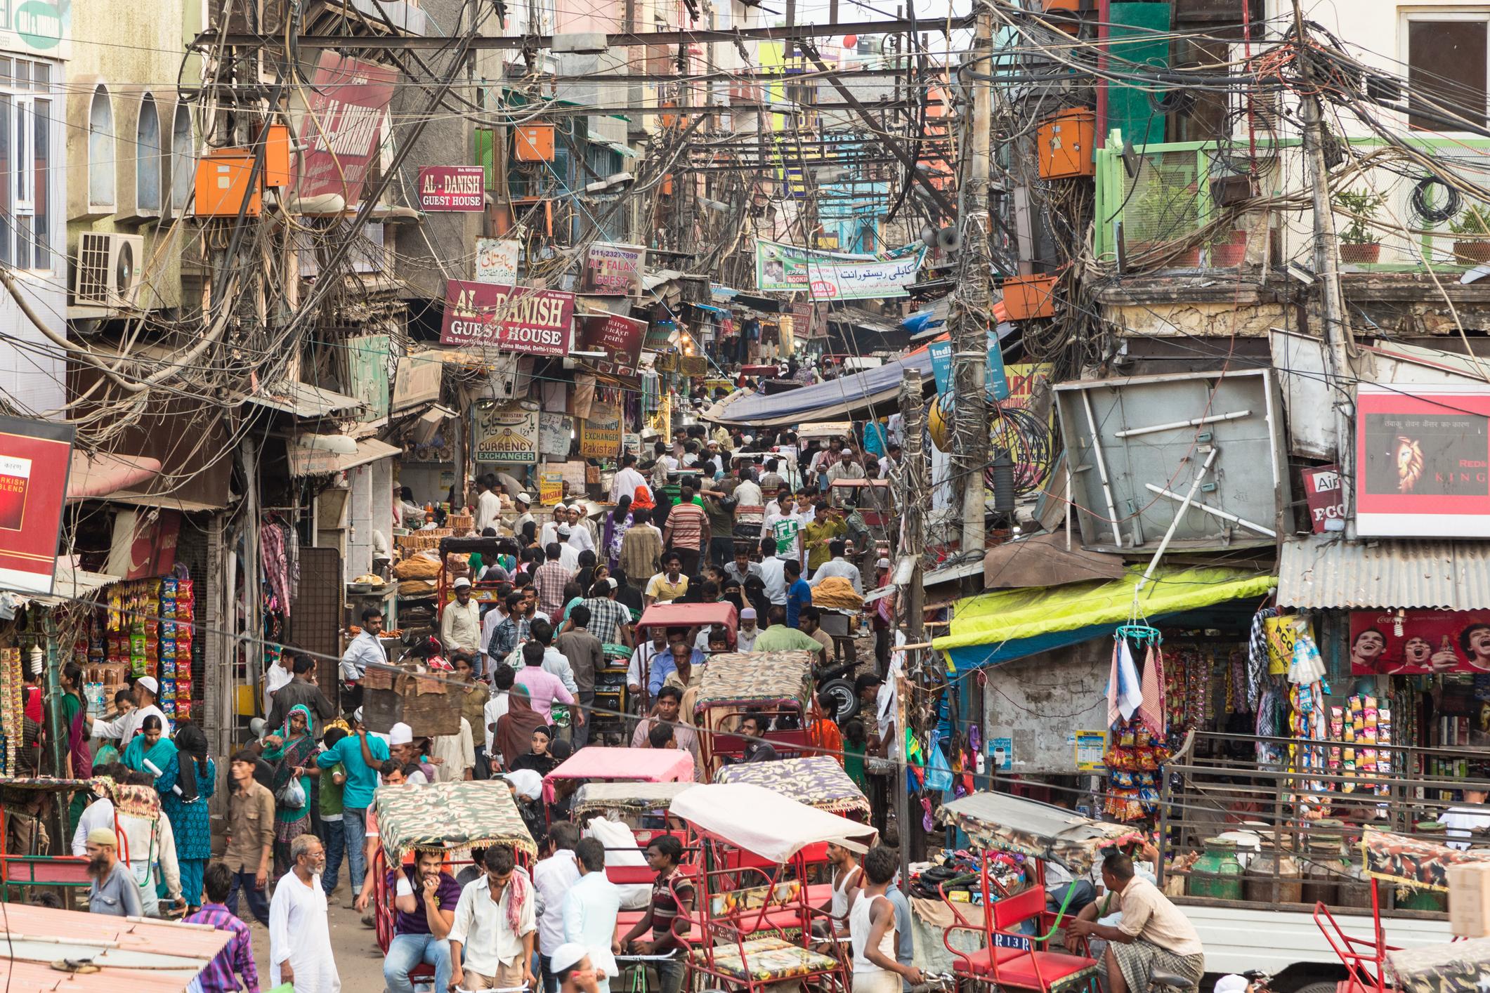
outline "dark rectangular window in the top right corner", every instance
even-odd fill
[[[1490,9],[1404,15],[1408,125],[1423,131],[1463,131],[1463,119],[1486,124]]]

